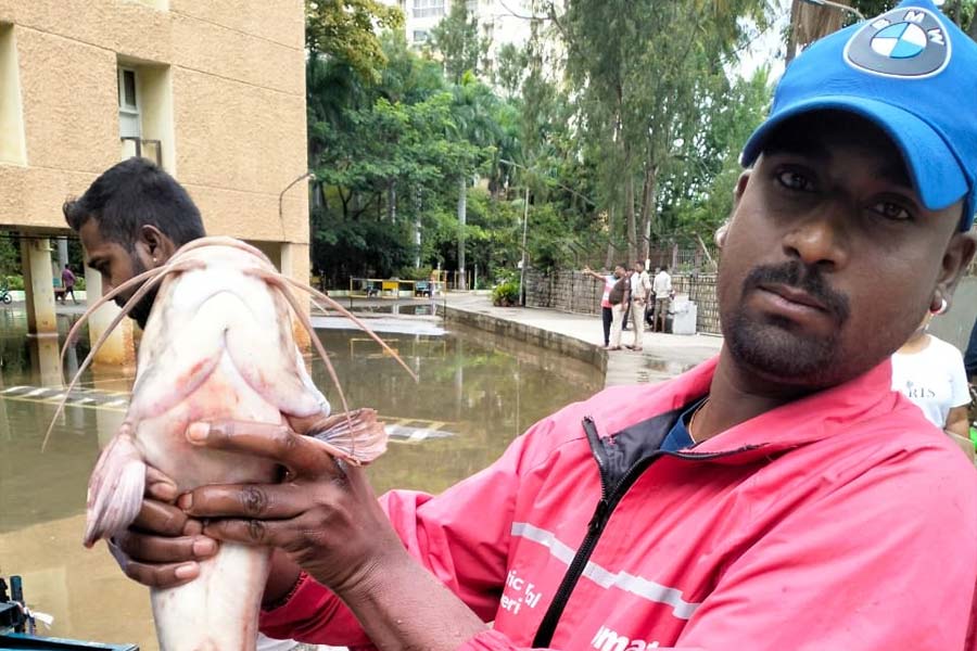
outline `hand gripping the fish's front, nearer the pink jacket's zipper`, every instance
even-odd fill
[[[290,422],[299,432],[310,426]],[[389,563],[410,562],[363,470],[295,431],[233,421],[191,425],[193,445],[263,457],[287,474],[280,484],[201,486],[177,505],[206,521],[205,536],[282,550],[340,595],[369,584]]]

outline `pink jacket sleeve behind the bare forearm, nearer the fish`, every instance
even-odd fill
[[[445,493],[432,497],[393,490],[380,498],[410,554],[483,621],[492,621],[505,584],[506,558],[520,472],[534,431],[517,438],[503,457]],[[279,639],[338,646],[369,643],[343,603],[310,578],[301,578],[289,600],[263,612],[261,630]]]

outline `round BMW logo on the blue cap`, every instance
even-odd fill
[[[845,46],[845,61],[884,77],[931,77],[950,62],[950,36],[927,9],[893,9],[855,31]]]

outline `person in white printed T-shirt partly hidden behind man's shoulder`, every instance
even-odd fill
[[[950,434],[974,458],[967,406],[970,394],[963,355],[926,332],[931,314],[892,355],[892,390],[915,403],[926,418]]]

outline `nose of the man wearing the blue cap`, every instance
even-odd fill
[[[797,220],[784,237],[784,252],[804,265],[837,270],[848,264],[850,208],[833,202]]]

